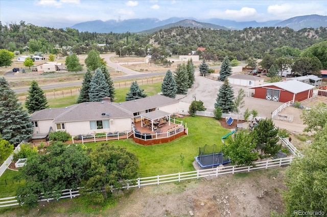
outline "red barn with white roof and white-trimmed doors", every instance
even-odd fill
[[[278,102],[303,101],[312,97],[315,87],[298,80],[284,80],[283,82],[270,83],[251,87],[253,97]]]

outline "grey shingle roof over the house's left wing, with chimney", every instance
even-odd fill
[[[132,117],[108,101],[83,102],[65,108],[46,108],[32,114],[31,120],[53,119],[54,123]]]

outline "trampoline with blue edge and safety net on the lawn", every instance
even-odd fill
[[[198,165],[201,168],[215,167],[219,165],[225,165],[230,163],[229,158],[224,158],[222,150],[215,145],[205,145],[199,148],[199,155],[195,157]]]

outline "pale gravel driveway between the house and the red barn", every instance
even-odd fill
[[[192,100],[194,100],[192,96],[195,94],[196,100],[203,101],[203,105],[207,109],[206,111],[212,112],[214,110],[214,104],[216,102],[219,88],[222,84],[223,82],[220,82],[218,80],[213,80],[202,76],[196,76],[194,87],[189,90],[186,96],[179,95],[178,97],[181,98],[180,101],[182,102],[191,103]],[[248,92],[248,88],[246,87],[243,86],[232,86],[232,87],[235,96],[237,96],[238,91],[241,88],[244,89],[244,92],[247,95],[245,97],[245,106],[243,107],[242,110],[245,111],[246,108],[249,108],[249,110],[254,109],[258,111],[260,117],[270,118],[272,112],[283,104],[282,102],[251,97],[251,94]]]

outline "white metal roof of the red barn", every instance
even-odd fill
[[[283,90],[289,91],[289,92],[294,93],[294,94],[301,93],[303,91],[307,91],[307,90],[315,88],[312,85],[308,85],[306,83],[299,82],[298,80],[284,80],[283,82],[275,82],[275,83],[269,83],[269,84],[265,84],[265,85],[250,87],[250,89],[265,88],[267,86],[268,87],[269,86],[275,86],[277,88],[281,88]]]

